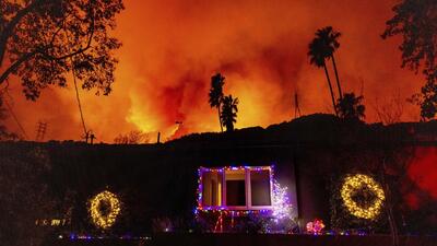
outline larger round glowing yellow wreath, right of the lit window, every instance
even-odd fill
[[[374,203],[366,208],[357,204],[357,202],[352,199],[352,196],[364,186],[375,195]],[[344,206],[353,215],[367,220],[374,220],[380,213],[382,202],[386,199],[380,185],[371,177],[363,174],[349,176],[344,179],[341,188],[341,197]]]

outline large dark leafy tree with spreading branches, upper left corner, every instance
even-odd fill
[[[121,44],[109,35],[121,0],[0,1],[0,84],[11,75],[22,80],[28,99],[40,90],[67,86],[74,69],[82,87],[110,93]]]

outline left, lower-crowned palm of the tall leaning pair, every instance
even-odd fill
[[[331,79],[329,78],[327,63],[324,62],[327,47],[323,44],[323,40],[318,37],[312,39],[312,42],[309,44],[308,47],[309,47],[308,56],[310,59],[309,62],[311,65],[315,65],[317,68],[323,67],[323,69],[324,69],[324,74],[327,75],[329,90],[331,92],[332,107],[334,108],[335,115],[339,116],[339,114],[336,113],[335,96],[334,96],[334,92],[332,91]]]

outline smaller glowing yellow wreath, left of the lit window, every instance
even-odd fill
[[[106,208],[105,208],[106,207]],[[107,190],[97,194],[91,199],[90,214],[93,223],[102,229],[109,229],[116,223],[121,210],[120,200]],[[102,211],[105,210],[105,211]]]

